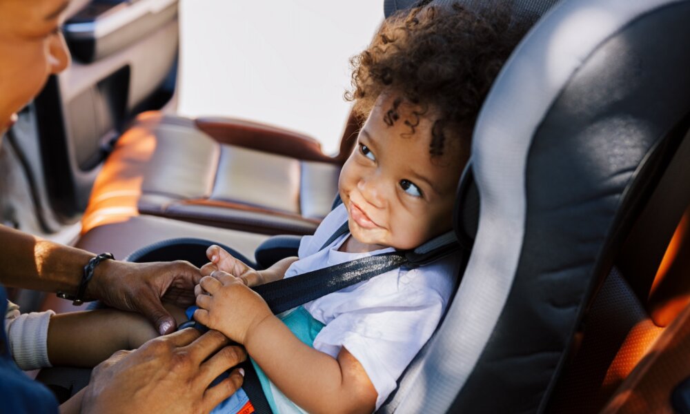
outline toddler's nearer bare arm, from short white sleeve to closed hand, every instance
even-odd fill
[[[345,348],[337,359],[302,343],[266,302],[222,271],[200,282],[195,319],[244,344],[247,353],[295,404],[309,412],[374,411],[377,392]]]

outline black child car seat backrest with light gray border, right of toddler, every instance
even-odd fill
[[[689,18],[690,0],[564,0],[517,47],[473,135],[471,257],[397,412],[544,408],[686,132]]]

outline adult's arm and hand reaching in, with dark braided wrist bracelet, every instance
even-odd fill
[[[76,293],[83,266],[93,253],[0,226],[0,282],[6,286]],[[188,262],[129,263],[106,260],[97,266],[86,296],[124,311],[142,313],[159,333],[175,331],[175,318],[161,298],[185,307],[194,303],[199,270]]]

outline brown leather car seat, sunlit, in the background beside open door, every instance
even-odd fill
[[[139,214],[265,234],[311,234],[328,214],[357,126],[340,152],[314,139],[237,119],[146,112],[99,173],[83,233]]]

